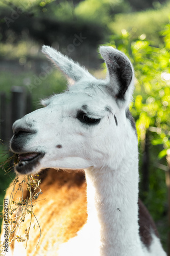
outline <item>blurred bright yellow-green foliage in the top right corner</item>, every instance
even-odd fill
[[[159,46],[162,43],[160,31],[163,30],[164,24],[169,22],[170,2],[160,5],[158,9],[119,13],[110,20],[109,29],[117,35],[122,34],[125,29],[129,32],[129,39],[136,40],[140,35],[145,34],[147,40],[152,41],[153,45]]]

